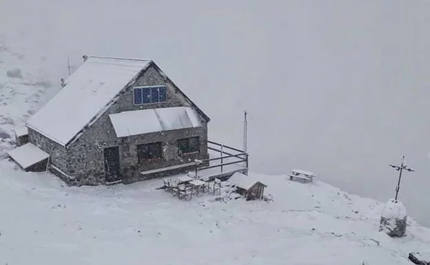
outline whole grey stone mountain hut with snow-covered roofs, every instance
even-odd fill
[[[209,117],[154,61],[83,58],[26,123],[28,142],[9,152],[21,167],[92,185],[170,175],[209,158]]]

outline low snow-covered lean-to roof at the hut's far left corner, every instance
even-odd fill
[[[49,157],[48,153],[45,153],[30,142],[8,151],[8,155],[23,169],[27,169]]]

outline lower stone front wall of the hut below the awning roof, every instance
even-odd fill
[[[193,136],[200,138],[200,153],[179,158],[176,140]],[[150,142],[162,142],[163,160],[138,165],[137,145]],[[119,160],[124,182],[134,182],[144,179],[139,174],[141,171],[170,167],[194,161],[195,158],[208,158],[207,127],[154,132],[119,139],[116,138],[109,116],[105,114],[68,149],[70,163],[67,165],[67,172],[79,180],[80,184],[105,183],[103,149],[115,146],[119,146]],[[154,176],[147,177],[153,178]]]

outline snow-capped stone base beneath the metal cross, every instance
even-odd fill
[[[391,199],[385,204],[380,219],[380,231],[385,231],[390,237],[402,237],[406,233],[407,213],[405,205]]]

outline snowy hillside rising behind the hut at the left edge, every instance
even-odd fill
[[[44,62],[45,57],[24,55],[0,39],[0,158],[10,149],[13,130],[58,91],[57,84],[46,78]]]

